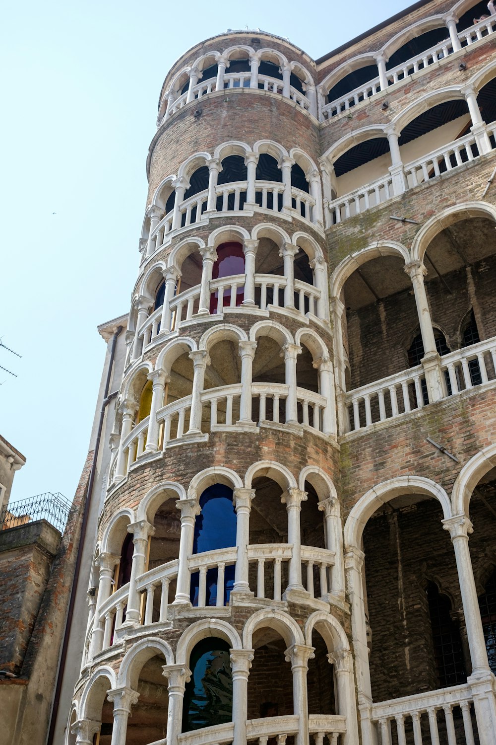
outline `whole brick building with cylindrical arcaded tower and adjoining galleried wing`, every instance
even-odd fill
[[[52,742],[496,743],[495,30],[168,73]]]

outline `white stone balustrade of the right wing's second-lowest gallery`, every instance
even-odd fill
[[[475,367],[474,367],[475,366]],[[445,397],[461,393],[496,379],[496,337],[457,349],[441,358]],[[449,386],[448,386],[449,384]],[[350,428],[370,427],[394,419],[427,402],[422,365],[350,390],[344,397]]]

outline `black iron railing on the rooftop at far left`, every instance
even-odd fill
[[[36,497],[6,504],[0,512],[0,529],[7,530],[35,520],[46,520],[63,533],[74,513],[71,502],[60,492],[45,492]]]

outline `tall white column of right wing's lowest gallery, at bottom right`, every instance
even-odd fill
[[[480,620],[479,601],[474,580],[474,571],[468,548],[468,534],[473,526],[465,515],[457,515],[442,521],[448,530],[457,562],[458,581],[462,596],[463,615],[467,630],[472,672],[467,682],[474,696],[475,717],[481,745],[495,745],[496,699],[495,676],[489,668],[486,640]]]

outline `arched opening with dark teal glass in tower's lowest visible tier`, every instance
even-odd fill
[[[182,731],[192,732],[233,719],[233,675],[229,644],[219,638],[199,641],[190,655],[190,682],[184,691]]]

